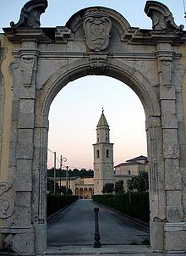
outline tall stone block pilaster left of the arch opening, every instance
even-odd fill
[[[35,251],[32,193],[37,55],[35,40],[22,42],[19,50],[20,84],[15,84],[19,86],[15,89],[19,114],[17,116],[16,209],[14,213],[14,227],[16,228],[14,228],[12,241],[13,250],[16,253]]]

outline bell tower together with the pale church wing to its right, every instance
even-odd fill
[[[127,182],[139,175],[140,171],[148,171],[147,157],[141,155],[124,163],[113,164],[113,143],[110,142],[109,125],[104,110],[96,126],[96,143],[94,147],[94,194],[102,194],[106,183],[123,181],[123,190],[127,192]]]

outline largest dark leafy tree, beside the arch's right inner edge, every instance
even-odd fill
[[[129,191],[148,191],[149,179],[148,172],[145,170],[139,171],[139,176],[127,181],[127,187]]]

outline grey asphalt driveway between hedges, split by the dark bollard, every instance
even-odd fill
[[[94,243],[96,203],[78,200],[47,221],[47,246],[92,245]],[[106,207],[100,207],[99,224],[102,245],[141,243],[148,233],[141,231]]]

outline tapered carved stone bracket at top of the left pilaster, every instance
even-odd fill
[[[30,86],[35,64],[34,55],[24,55],[22,57],[21,70],[23,71],[23,83],[25,86]]]

